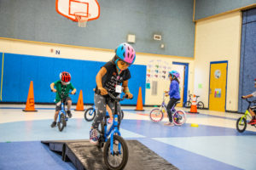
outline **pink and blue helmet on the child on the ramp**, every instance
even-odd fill
[[[134,48],[131,47],[128,43],[121,43],[118,48],[115,49],[116,56],[125,61],[128,65],[132,65],[136,59],[136,54]],[[115,64],[117,64],[118,59],[115,60]]]

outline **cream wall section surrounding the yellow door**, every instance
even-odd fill
[[[241,12],[196,22],[195,94],[208,107],[210,62],[228,61],[226,111],[237,111],[241,48]],[[201,87],[199,86],[201,84]]]

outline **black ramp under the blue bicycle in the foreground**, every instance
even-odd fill
[[[125,170],[177,169],[137,140],[125,140],[125,142],[129,149],[129,160]],[[102,150],[90,144],[89,140],[56,140],[42,141],[42,143],[49,144],[50,150],[61,151],[63,161],[72,161],[78,169],[107,169]]]

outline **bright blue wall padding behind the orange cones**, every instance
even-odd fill
[[[2,60],[1,54],[1,75]],[[72,75],[72,83],[78,92],[71,96],[73,103],[79,99],[82,89],[84,104],[93,104],[93,88],[96,87],[96,73],[104,62],[56,59],[23,54],[4,54],[3,62],[3,100],[2,102],[26,102],[29,84],[33,81],[34,98],[36,103],[53,103],[55,94],[50,92],[49,84],[59,79],[61,71],[68,71]],[[139,87],[143,90],[145,101],[146,66],[131,65],[131,79],[129,88],[134,99],[125,100],[125,105],[136,105]],[[143,103],[144,104],[144,103]]]

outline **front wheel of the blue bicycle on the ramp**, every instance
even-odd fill
[[[105,164],[109,169],[123,169],[128,161],[128,146],[125,139],[113,135],[113,150],[110,147],[110,139],[104,144],[103,156]]]

